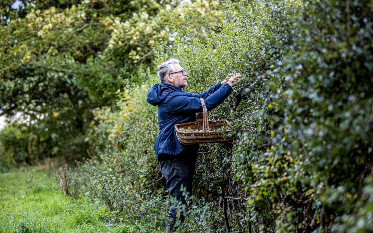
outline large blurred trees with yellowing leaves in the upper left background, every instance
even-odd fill
[[[219,14],[219,2],[205,0],[24,0],[18,9],[13,3],[0,8],[0,116],[22,113],[19,123],[69,161],[94,153],[85,140],[94,109],[116,111],[116,91],[153,66],[158,40],[170,44],[169,13],[180,25],[185,14]]]

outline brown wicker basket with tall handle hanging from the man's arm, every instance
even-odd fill
[[[231,132],[232,130],[229,128],[229,121],[228,120],[209,120],[207,117],[207,108],[203,98],[200,98],[202,109],[203,109],[203,119],[201,114],[197,117],[195,122],[188,122],[188,123],[181,123],[175,125],[176,136],[178,140],[183,145],[190,145],[190,144],[200,144],[200,143],[217,143],[217,142],[228,142],[231,139],[228,137],[223,137],[221,132],[216,132],[222,126],[228,126],[228,129],[225,132]],[[191,127],[194,132],[183,132],[180,128],[187,129]],[[200,132],[200,130],[203,130]]]

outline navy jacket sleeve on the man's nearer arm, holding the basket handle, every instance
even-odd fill
[[[223,84],[214,93],[205,99],[207,110],[212,110],[219,106],[232,92],[229,84]],[[175,93],[175,92],[174,92]],[[197,95],[198,96],[198,95]],[[201,101],[197,97],[188,97],[185,95],[175,95],[167,101],[167,107],[170,113],[196,113],[202,111]]]

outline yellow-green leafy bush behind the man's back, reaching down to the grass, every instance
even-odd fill
[[[156,182],[162,175],[153,154],[158,126],[156,108],[145,98],[153,81],[128,85],[125,92],[118,93],[119,111],[115,113],[96,109],[94,130],[87,140],[94,140],[97,157],[76,169],[60,169],[57,178],[62,192],[105,204],[118,221],[155,222],[159,227],[159,220],[166,217],[166,202],[156,194],[164,187],[163,182]]]

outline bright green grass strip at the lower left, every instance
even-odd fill
[[[54,174],[18,171],[0,174],[0,232],[153,232],[146,226],[108,220],[104,206],[68,198]]]

